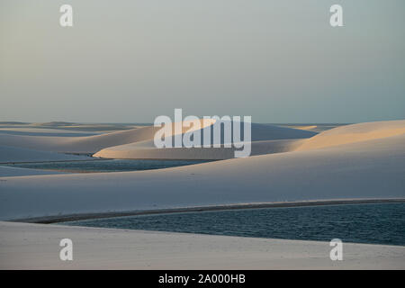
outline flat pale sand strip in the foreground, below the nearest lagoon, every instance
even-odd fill
[[[60,239],[73,261],[60,261]],[[0,222],[0,269],[404,269],[405,247]]]

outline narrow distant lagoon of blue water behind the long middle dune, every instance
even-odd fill
[[[31,169],[57,170],[75,173],[118,172],[161,169],[175,166],[186,166],[204,163],[204,160],[89,160],[89,161],[60,161],[38,163],[16,163],[4,166],[14,166]]]

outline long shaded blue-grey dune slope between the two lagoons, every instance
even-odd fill
[[[243,202],[404,198],[405,135],[154,171],[0,182],[0,219]]]

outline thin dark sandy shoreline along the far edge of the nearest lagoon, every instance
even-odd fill
[[[102,219],[102,218],[112,218],[112,217],[181,213],[181,212],[228,211],[228,210],[263,209],[263,208],[288,208],[288,207],[372,204],[372,203],[392,203],[392,202],[405,202],[405,198],[342,199],[342,200],[315,200],[315,201],[304,201],[304,202],[242,203],[242,204],[229,204],[229,205],[183,207],[183,208],[172,208],[172,209],[155,209],[155,210],[143,210],[143,211],[108,211],[108,212],[97,212],[97,213],[80,213],[80,214],[69,214],[69,215],[33,217],[33,218],[17,219],[17,220],[11,220],[11,221],[25,222],[25,223],[37,223],[37,224],[51,224],[51,223],[76,221],[76,220],[91,220],[91,219]]]

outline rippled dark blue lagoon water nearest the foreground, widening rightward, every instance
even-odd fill
[[[405,245],[405,203],[349,204],[141,215],[65,222],[257,238]]]

